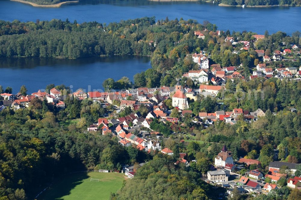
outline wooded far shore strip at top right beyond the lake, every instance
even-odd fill
[[[300,0],[222,0],[226,5],[249,5],[249,6],[269,6],[269,5],[301,5]]]

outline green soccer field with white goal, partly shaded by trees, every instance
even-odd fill
[[[122,186],[124,174],[120,173],[75,173],[55,183],[39,196],[38,200],[71,199],[109,199],[110,192],[116,192]],[[90,181],[90,179],[99,179]]]

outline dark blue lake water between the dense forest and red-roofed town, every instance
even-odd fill
[[[13,88],[17,93],[25,85],[28,93],[45,89],[48,84],[70,86],[86,91],[102,90],[107,78],[115,81],[129,77],[133,81],[136,73],[151,68],[149,57],[114,56],[107,58],[40,59],[15,58],[0,59],[0,85]]]

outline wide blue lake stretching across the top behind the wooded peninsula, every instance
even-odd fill
[[[205,2],[150,2],[147,0],[106,1],[87,0],[78,4],[63,5],[60,8],[37,8],[31,5],[0,1],[0,19],[13,21],[51,20],[53,18],[77,22],[97,21],[100,23],[141,17],[156,19],[194,19],[202,23],[208,20],[219,29],[231,32],[253,31],[264,34],[283,31],[291,34],[301,32],[301,7],[238,8],[221,7]]]

